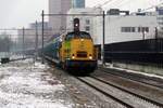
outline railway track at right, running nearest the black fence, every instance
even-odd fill
[[[99,68],[100,71],[106,72],[108,75],[116,76],[116,77],[122,77],[124,79],[129,79],[131,81],[136,81],[146,85],[150,85],[156,89],[163,90],[163,80],[153,78],[153,77],[146,77],[138,73],[131,73],[131,72],[126,72],[123,70],[116,70],[116,69],[103,69]]]

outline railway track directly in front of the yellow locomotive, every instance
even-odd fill
[[[127,108],[163,107],[163,104],[161,103],[151,100],[150,98],[143,97],[139,94],[131,93],[126,89],[120,87],[96,77],[78,77],[77,79]]]

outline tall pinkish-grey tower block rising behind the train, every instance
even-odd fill
[[[49,14],[66,14],[72,8],[72,0],[49,0]],[[66,16],[49,16],[49,24],[53,33],[61,33],[66,29]]]

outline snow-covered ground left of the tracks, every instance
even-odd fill
[[[0,108],[72,108],[65,86],[32,59],[0,66]]]

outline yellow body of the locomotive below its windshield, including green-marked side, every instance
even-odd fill
[[[72,39],[63,41],[60,50],[60,58],[64,63],[72,60],[96,60],[97,50],[91,39]]]

